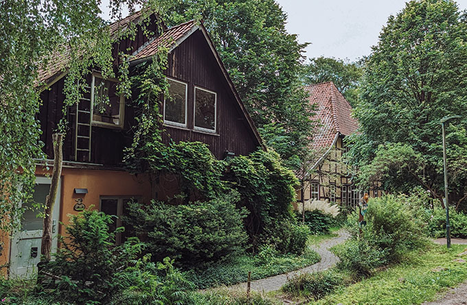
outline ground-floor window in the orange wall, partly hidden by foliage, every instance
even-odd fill
[[[130,200],[135,200],[131,197],[101,197],[100,198],[100,210],[101,212],[106,213],[107,215],[114,215],[116,216],[113,219],[113,223],[109,225],[109,229],[111,232],[117,230],[117,228],[122,227],[124,223],[122,223],[122,215],[126,214],[126,208],[128,207],[128,202]],[[128,234],[128,229],[124,232],[119,232],[115,236],[115,243],[119,245],[122,241],[126,240],[126,235]]]

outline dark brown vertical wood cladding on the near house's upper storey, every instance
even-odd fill
[[[152,17],[154,18],[154,17]],[[148,41],[141,29],[137,38],[129,39],[115,45],[113,53],[126,51],[133,53]],[[116,56],[115,56],[116,58]],[[117,64],[117,60],[115,60]],[[216,62],[212,49],[200,29],[192,33],[188,38],[177,45],[169,54],[168,70],[166,75],[188,84],[187,90],[187,127],[164,126],[163,141],[168,143],[170,139],[179,141],[201,141],[209,145],[209,149],[218,159],[225,157],[227,151],[235,155],[246,155],[258,149],[261,143],[255,136],[255,131],[247,122],[247,114],[236,101],[235,93],[229,87],[229,82],[223,75],[223,71]],[[66,76],[65,76],[66,77]],[[38,113],[41,124],[41,141],[47,158],[53,158],[52,134],[58,127],[58,122],[63,116],[65,95],[63,93],[65,77],[54,82],[41,93],[42,105]],[[87,77],[87,86],[91,88],[91,74]],[[206,88],[217,94],[216,103],[216,132],[200,132],[193,130],[194,121],[194,86]],[[161,107],[163,108],[163,107]],[[128,147],[133,141],[133,127],[135,125],[135,108],[132,101],[125,101],[124,125],[122,128],[102,127],[89,124],[91,110],[90,93],[85,93],[78,106],[67,109],[68,130],[63,145],[65,161],[76,161],[106,166],[122,165],[124,147]],[[78,120],[78,121],[76,121]],[[77,124],[79,123],[79,124]],[[86,124],[89,124],[87,127]],[[89,133],[91,128],[91,133]],[[90,154],[87,151],[77,151],[86,147],[86,137],[91,134]],[[88,158],[90,156],[90,158]]]

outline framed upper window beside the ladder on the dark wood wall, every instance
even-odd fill
[[[117,95],[117,85],[117,80],[104,80],[100,75],[93,75],[91,103],[94,125],[123,127],[124,96]]]

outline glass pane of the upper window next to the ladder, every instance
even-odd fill
[[[120,125],[120,96],[116,82],[94,77],[93,121]]]

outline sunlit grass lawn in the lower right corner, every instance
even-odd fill
[[[421,304],[435,294],[467,280],[467,263],[457,263],[466,245],[433,245],[411,252],[405,262],[389,267],[310,304]],[[464,256],[464,259],[466,257]]]

